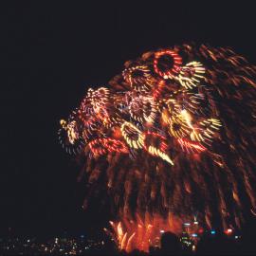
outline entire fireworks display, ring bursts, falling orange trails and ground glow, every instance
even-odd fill
[[[255,78],[229,47],[158,48],[61,119],[64,150],[85,159],[83,209],[107,191],[98,200],[111,201],[120,248],[147,250],[192,221],[241,229],[256,210]]]

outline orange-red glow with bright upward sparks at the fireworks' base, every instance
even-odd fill
[[[119,222],[111,221],[110,225],[112,229],[104,229],[105,232],[116,241],[120,250],[127,252],[136,248],[148,252],[149,247],[160,247],[160,237],[164,232],[171,231],[176,234],[186,232],[192,237],[192,234],[199,233],[201,229],[197,221],[188,222],[188,218],[184,217],[182,220],[172,213],[166,218],[160,214],[147,213],[143,220],[137,214],[133,220],[124,217]]]

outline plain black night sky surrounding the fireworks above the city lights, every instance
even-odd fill
[[[65,155],[57,131],[88,86],[108,82],[125,61],[196,42],[232,46],[256,64],[249,1],[63,2],[1,8],[1,233],[83,232],[99,223],[99,214],[82,212],[81,166]]]

